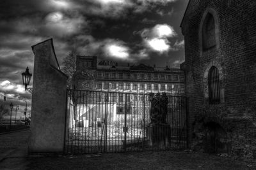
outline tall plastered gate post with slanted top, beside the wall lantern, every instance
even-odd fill
[[[35,55],[29,153],[63,153],[67,76],[52,39],[32,46]]]

